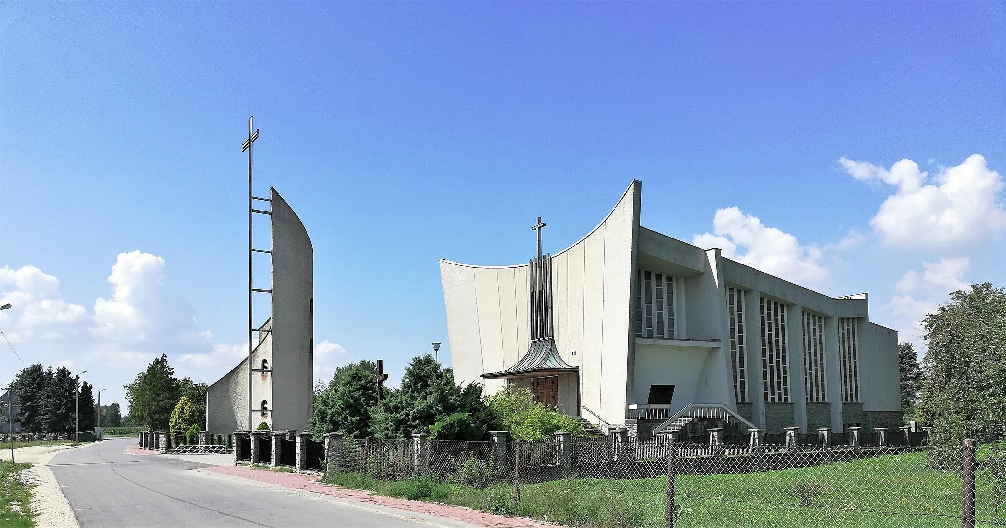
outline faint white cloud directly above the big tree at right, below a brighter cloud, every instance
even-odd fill
[[[923,273],[915,270],[905,272],[894,287],[894,291],[901,295],[892,297],[886,306],[899,328],[910,329],[902,336],[904,340],[915,343],[920,350],[925,347],[921,340],[925,333],[923,318],[936,312],[951,293],[968,288],[968,283],[962,278],[971,271],[971,258],[945,256],[936,262],[923,262]]]

